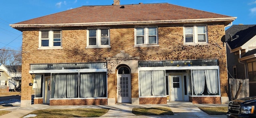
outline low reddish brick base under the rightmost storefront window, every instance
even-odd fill
[[[221,104],[220,97],[197,97],[197,96],[190,96],[189,101],[193,104]]]

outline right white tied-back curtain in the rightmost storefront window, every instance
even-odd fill
[[[218,93],[218,75],[217,70],[204,70],[208,94]]]

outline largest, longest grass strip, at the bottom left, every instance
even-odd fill
[[[45,109],[36,110],[34,118],[70,118],[70,117],[100,117],[108,112],[104,108],[74,108],[74,109]],[[28,115],[28,114],[27,114]],[[26,115],[25,115],[26,116]]]

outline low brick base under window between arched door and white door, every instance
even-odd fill
[[[139,98],[140,104],[167,104],[166,97],[160,98]]]

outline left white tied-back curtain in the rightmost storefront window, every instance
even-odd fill
[[[204,70],[192,70],[193,88],[196,95],[204,92],[205,76]]]

